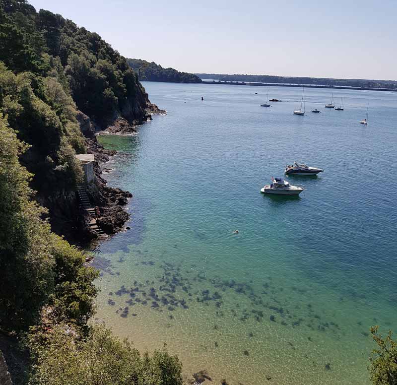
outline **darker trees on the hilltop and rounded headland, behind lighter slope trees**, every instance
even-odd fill
[[[56,75],[99,126],[142,119],[144,89],[126,59],[101,37],[25,0],[1,0],[0,61],[13,71]]]

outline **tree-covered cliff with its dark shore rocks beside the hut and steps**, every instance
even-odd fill
[[[75,155],[107,160],[112,153],[98,145],[95,132],[132,132],[150,119],[153,106],[124,57],[61,15],[37,12],[25,0],[2,0],[0,32],[0,114],[30,146],[20,161],[34,174],[31,186],[53,230],[72,242],[89,239]],[[91,204],[109,216],[104,227],[111,234],[128,218],[120,207],[131,194],[107,187],[98,164],[95,170]]]

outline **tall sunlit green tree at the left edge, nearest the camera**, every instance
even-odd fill
[[[0,118],[0,324],[15,329],[37,322],[54,290],[49,225],[31,199],[31,174],[18,162],[26,148]]]

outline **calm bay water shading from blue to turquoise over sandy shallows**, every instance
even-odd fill
[[[98,315],[140,349],[167,343],[215,383],[366,384],[369,327],[396,329],[397,95],[145,83],[166,109],[119,153],[131,230],[100,245]],[[259,95],[255,95],[258,92]],[[204,101],[200,101],[200,97]],[[369,124],[365,117],[369,102]],[[294,160],[299,198],[263,196]],[[239,234],[233,234],[233,230]],[[270,381],[270,380],[269,380]]]

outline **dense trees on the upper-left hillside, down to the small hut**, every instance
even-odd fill
[[[40,195],[74,190],[85,152],[77,109],[103,128],[144,117],[147,96],[125,58],[96,33],[26,0],[0,0],[0,114],[30,144]],[[1,63],[2,62],[2,63]]]

